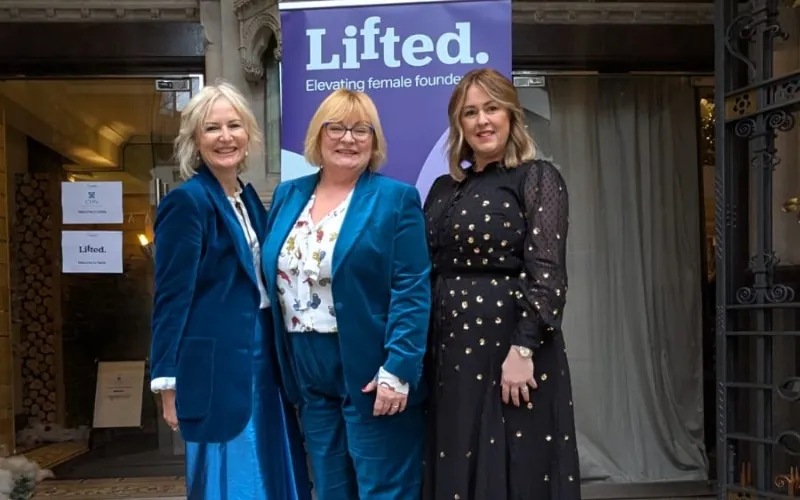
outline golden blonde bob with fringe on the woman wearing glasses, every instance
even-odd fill
[[[339,89],[332,92],[319,105],[306,131],[304,155],[306,161],[315,167],[322,166],[322,127],[328,122],[338,122],[350,117],[358,117],[372,126],[372,157],[367,168],[377,171],[386,161],[386,138],[378,117],[378,108],[364,92]]]

